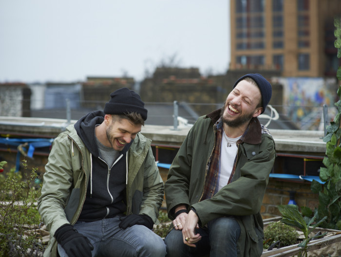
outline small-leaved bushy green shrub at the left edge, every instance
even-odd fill
[[[0,167],[5,164],[0,162]],[[25,161],[23,166],[26,172]],[[40,186],[35,184],[36,171],[21,174],[13,168],[6,176],[0,174],[0,257],[38,256],[45,248],[40,240],[40,216],[35,206],[40,195]]]

